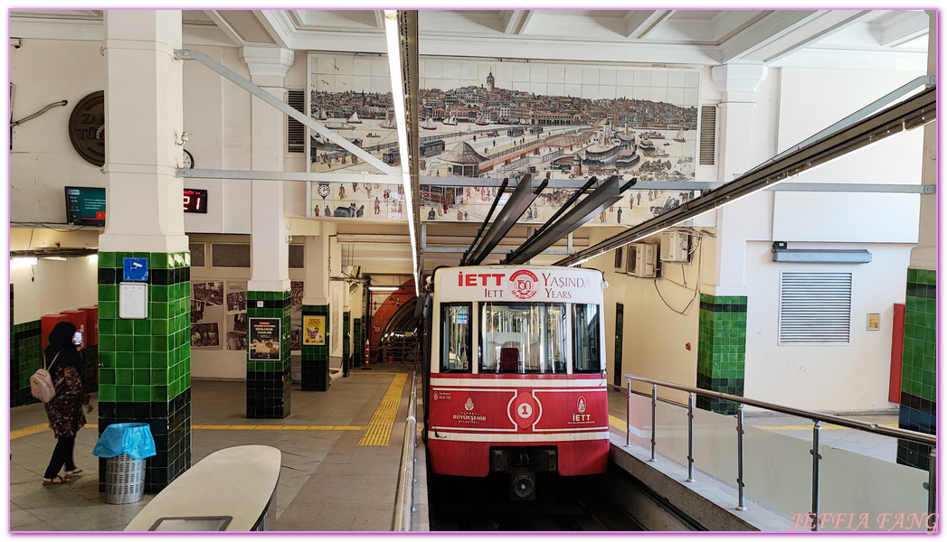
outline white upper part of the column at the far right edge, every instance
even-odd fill
[[[930,16],[930,31],[927,33],[927,75],[938,74],[938,15]],[[920,182],[924,185],[938,184],[938,121],[928,123],[924,130],[923,155],[921,156]],[[918,244],[911,250],[913,270],[933,271],[938,269],[938,196],[920,197],[920,226]]]

